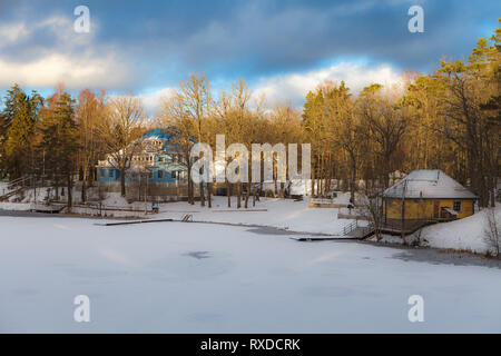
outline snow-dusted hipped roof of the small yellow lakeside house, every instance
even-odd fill
[[[419,169],[383,192],[385,198],[475,199],[477,196],[440,169]]]

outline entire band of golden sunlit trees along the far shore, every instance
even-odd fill
[[[372,83],[354,93],[342,81],[323,82],[305,98],[302,110],[291,102],[269,106],[245,80],[214,92],[204,75],[190,75],[148,117],[139,97],[107,96],[89,89],[72,98],[62,86],[43,99],[18,85],[7,91],[0,112],[0,174],[47,179],[67,187],[71,204],[75,177],[87,187],[97,179],[96,165],[106,155],[120,171],[121,194],[141,135],[169,128],[188,165],[188,200],[194,142],[215,148],[216,134],[226,145],[310,142],[312,194],[322,196],[341,179],[354,196],[357,181],[387,187],[391,175],[413,169],[442,169],[494,205],[500,158],[500,38],[479,39],[468,60],[441,60],[431,75],[405,72],[403,86]],[[200,184],[200,204],[212,206],[213,185]],[[247,207],[252,181],[226,184],[237,207]],[[230,189],[232,188],[232,189]],[[275,182],[275,191],[284,186]],[[58,194],[58,192],[57,192]]]

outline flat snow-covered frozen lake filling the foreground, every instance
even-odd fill
[[[0,217],[1,333],[500,333],[501,269],[209,224]],[[73,298],[90,298],[90,323]],[[411,295],[424,323],[410,323]]]

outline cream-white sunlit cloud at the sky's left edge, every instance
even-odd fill
[[[53,87],[63,82],[69,89],[79,89],[134,83],[130,65],[120,60],[122,57],[115,48],[94,46],[97,30],[98,23],[92,22],[90,33],[76,33],[72,19],[63,16],[0,27],[0,38],[7,39],[3,46],[29,40],[38,31],[48,31],[57,43],[55,48],[32,44],[37,56],[12,59],[0,53],[0,87],[10,87],[14,82],[28,87]]]

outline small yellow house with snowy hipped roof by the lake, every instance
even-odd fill
[[[385,221],[462,219],[474,212],[477,196],[440,169],[413,170],[383,192]]]

